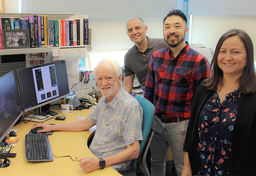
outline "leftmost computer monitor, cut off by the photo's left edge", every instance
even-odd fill
[[[0,142],[23,115],[14,71],[0,77]]]

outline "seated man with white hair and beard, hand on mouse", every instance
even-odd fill
[[[85,172],[111,166],[117,171],[132,169],[138,158],[142,138],[143,110],[140,103],[121,87],[122,70],[116,61],[106,59],[93,70],[103,95],[95,110],[84,120],[62,125],[37,124],[38,132],[83,131],[97,124],[90,151],[99,159],[82,158]],[[104,166],[105,165],[105,166]]]

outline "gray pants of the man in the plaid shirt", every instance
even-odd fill
[[[181,175],[184,167],[183,144],[186,135],[188,120],[182,122],[162,122],[155,115],[152,129],[155,131],[150,144],[151,151],[151,176],[165,175],[165,161],[169,146],[173,162],[178,175]]]

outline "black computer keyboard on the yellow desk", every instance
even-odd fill
[[[53,154],[46,134],[32,133],[25,136],[26,158],[29,162],[53,161]]]

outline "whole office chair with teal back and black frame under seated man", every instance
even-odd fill
[[[140,105],[143,109],[143,125],[142,125],[143,141],[140,142],[139,157],[132,161],[132,168],[138,174],[149,176],[150,174],[147,168],[146,160],[147,160],[147,151],[151,143],[152,137],[154,135],[154,131],[151,130],[151,126],[155,116],[155,107],[150,101],[148,101],[147,99],[139,95],[135,96],[135,99],[137,99],[140,102]],[[138,161],[140,157],[142,158],[141,163],[140,161]]]

